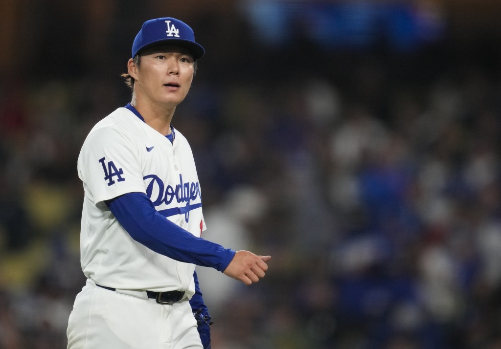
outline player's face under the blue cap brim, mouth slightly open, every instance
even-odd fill
[[[134,66],[134,93],[151,103],[176,106],[188,94],[193,80],[191,53],[179,46],[165,45],[145,50],[139,67]],[[130,69],[130,67],[129,67]]]

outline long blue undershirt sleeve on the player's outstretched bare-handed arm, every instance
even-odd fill
[[[224,271],[235,255],[235,251],[172,223],[158,213],[144,193],[127,193],[106,204],[134,240],[172,259]]]

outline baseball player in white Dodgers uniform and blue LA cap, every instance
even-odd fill
[[[249,285],[270,256],[202,239],[202,191],[190,146],[171,125],[204,49],[174,18],[146,21],[127,63],[132,101],[90,131],[78,158],[84,186],[86,285],[68,348],[209,348],[210,315],[195,264]]]

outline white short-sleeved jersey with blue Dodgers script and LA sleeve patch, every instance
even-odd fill
[[[145,193],[157,211],[200,236],[205,230],[193,154],[175,131],[172,144],[127,108],[94,126],[78,158],[85,197],[81,265],[96,283],[120,289],[183,290],[194,293],[194,264],[158,254],[134,241],[108,210],[105,200]]]

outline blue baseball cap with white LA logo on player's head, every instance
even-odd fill
[[[195,60],[205,53],[203,47],[195,42],[195,34],[186,23],[165,17],[143,23],[132,44],[132,58],[145,49],[163,44],[184,47],[193,54]]]

